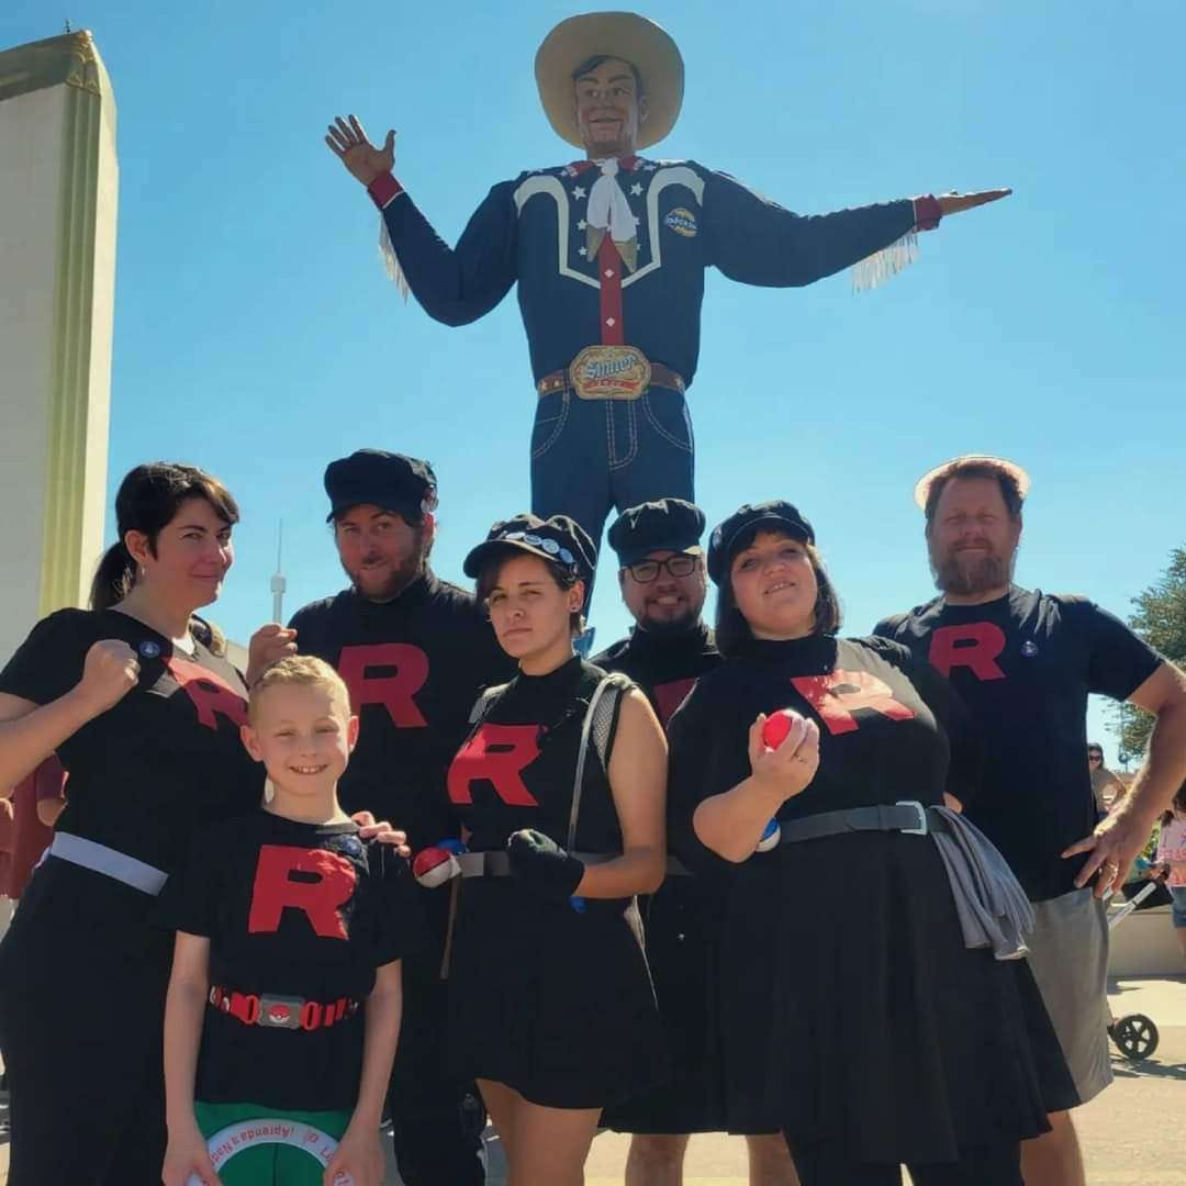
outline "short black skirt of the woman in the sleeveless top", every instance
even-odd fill
[[[667,1072],[633,900],[584,912],[510,878],[461,884],[449,1039],[465,1079],[549,1108],[604,1108]]]

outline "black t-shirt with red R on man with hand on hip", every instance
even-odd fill
[[[1016,586],[984,605],[939,597],[876,632],[945,675],[982,734],[983,780],[968,817],[1033,900],[1073,890],[1083,859],[1059,854],[1096,822],[1088,694],[1127,700],[1161,656],[1091,601]]]

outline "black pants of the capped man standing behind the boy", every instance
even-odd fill
[[[449,1073],[439,956],[404,961],[403,1022],[388,1110],[395,1160],[407,1186],[483,1186],[486,1114],[473,1084]]]

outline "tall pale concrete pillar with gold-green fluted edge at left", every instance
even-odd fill
[[[0,52],[0,663],[102,554],[117,191],[91,34]]]

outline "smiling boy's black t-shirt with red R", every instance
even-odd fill
[[[164,916],[176,930],[210,939],[216,1001],[237,993],[256,1015],[304,1013],[310,1028],[247,1024],[208,1005],[195,1097],[352,1108],[362,1002],[375,969],[403,954],[409,884],[407,863],[394,849],[359,840],[355,823],[300,823],[261,809],[203,829],[165,888]]]

